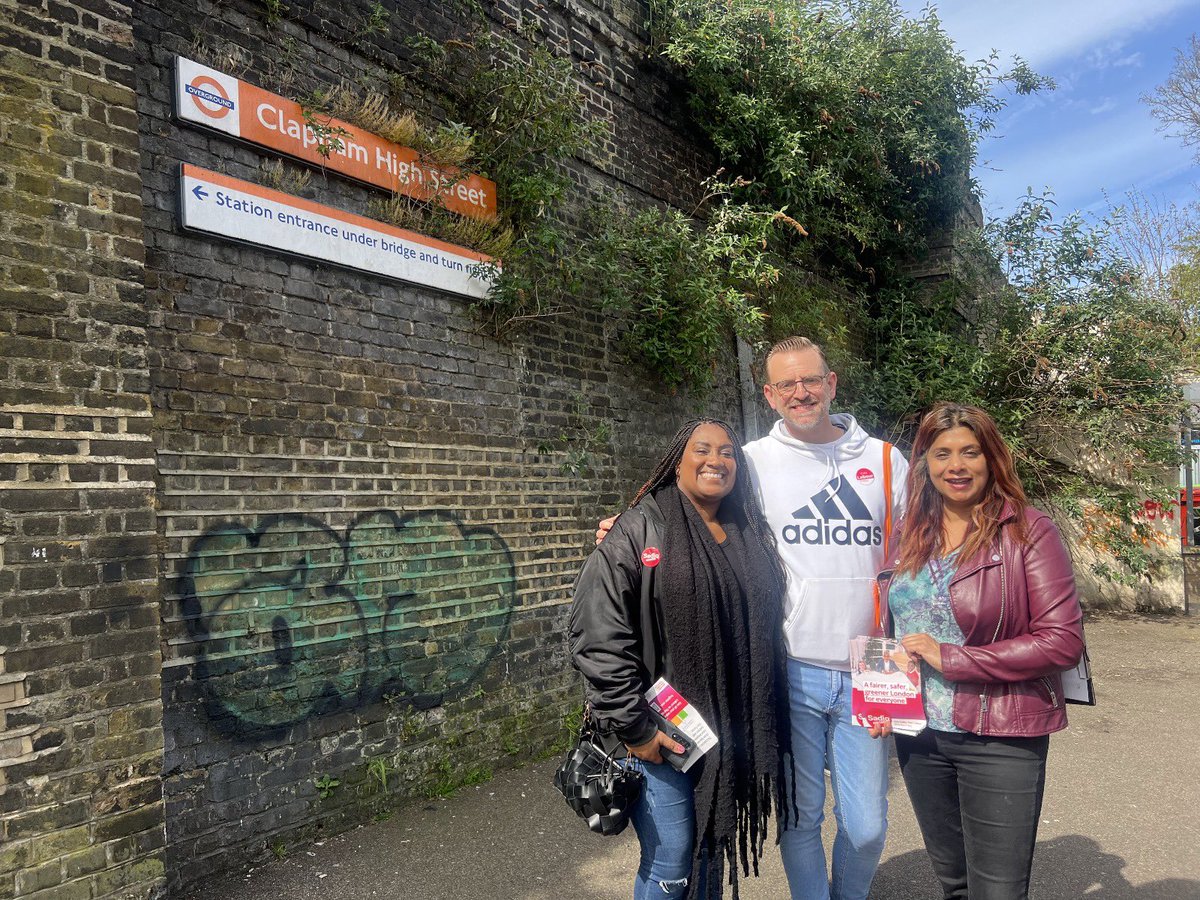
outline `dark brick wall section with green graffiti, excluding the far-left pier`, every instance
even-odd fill
[[[408,71],[418,23],[461,29],[452,5],[385,6],[391,28],[370,36],[359,0],[336,22],[295,2],[278,22],[257,2],[134,13],[181,888],[544,751],[580,696],[563,629],[594,521],[678,421],[738,418],[732,344],[712,396],[668,396],[594,312],[498,342],[461,298],[180,230],[179,163],[262,181],[268,160],[172,119],[174,56],[302,97]],[[602,158],[571,166],[581,194],[619,182],[686,203],[704,164],[642,58],[643,10],[488,8],[514,35],[538,18],[613,124]],[[436,91],[409,84],[436,114]],[[302,193],[354,212],[378,196],[332,174]]]

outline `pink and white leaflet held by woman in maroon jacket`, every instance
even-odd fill
[[[851,715],[864,727],[892,721],[892,731],[917,734],[925,727],[920,665],[890,637],[850,642]]]

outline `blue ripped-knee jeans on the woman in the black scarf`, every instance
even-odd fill
[[[682,898],[691,877],[696,811],[691,779],[662,763],[638,761],[646,781],[630,812],[642,863],[634,881],[634,900]]]

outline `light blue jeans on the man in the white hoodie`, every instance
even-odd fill
[[[850,672],[787,660],[796,809],[786,810],[779,848],[792,900],[866,900],[888,828],[888,744],[850,719]],[[821,844],[824,770],[833,785],[838,836],[833,875]]]

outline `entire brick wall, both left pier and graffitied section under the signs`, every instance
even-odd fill
[[[642,2],[485,6],[611,126],[578,196],[692,208],[713,166]],[[296,100],[403,72],[440,115],[408,38],[463,8],[323,8],[0,0],[0,898],[184,892],[545,751],[595,520],[678,421],[754,420],[732,342],[668,395],[594,311],[496,341],[461,298],[185,233],[180,163],[275,161],[173,118],[176,55]]]

